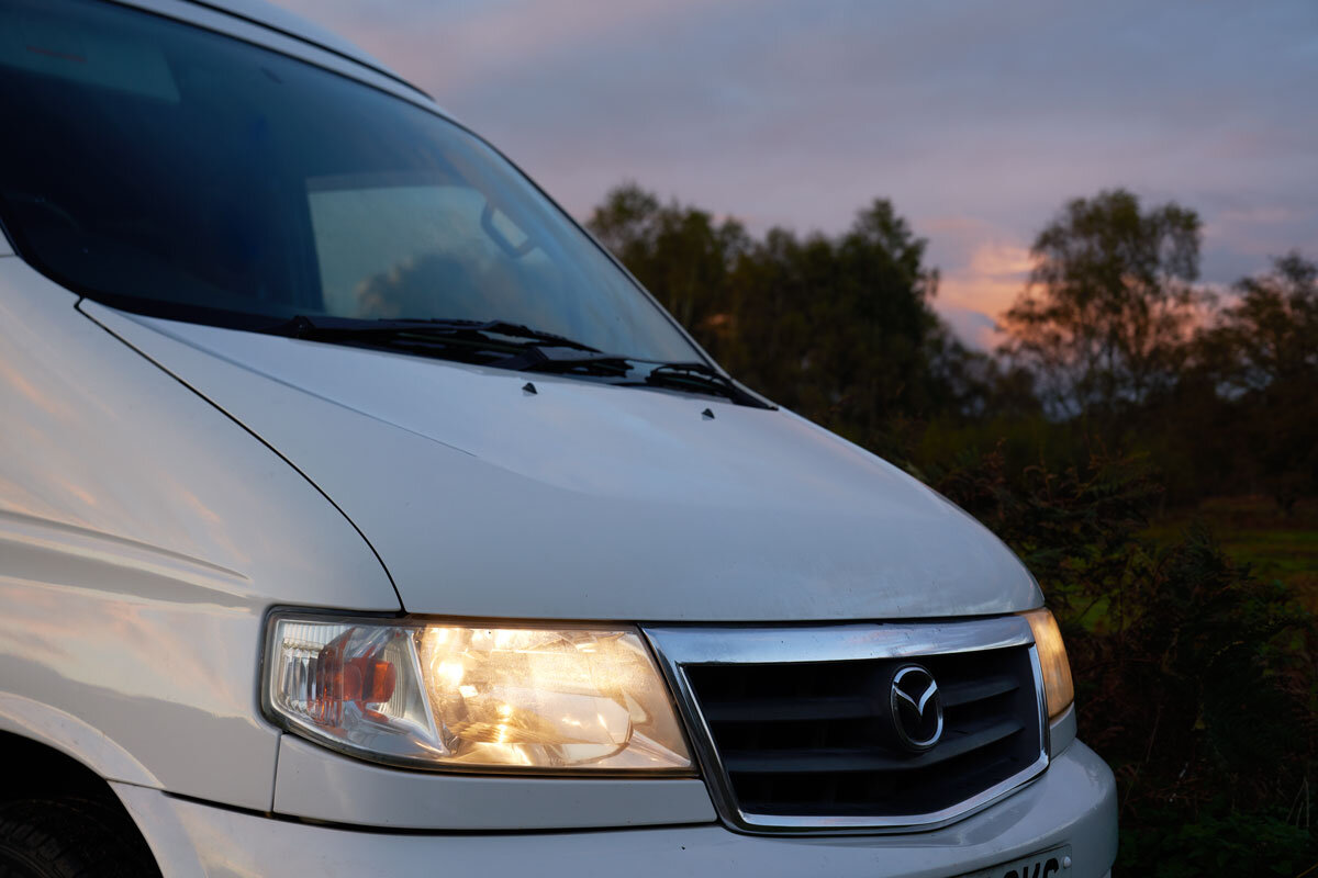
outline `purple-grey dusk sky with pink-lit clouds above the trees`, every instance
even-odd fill
[[[1315,0],[275,0],[490,138],[580,219],[635,180],[757,233],[888,197],[992,342],[1035,234],[1126,187],[1203,282],[1318,258]]]

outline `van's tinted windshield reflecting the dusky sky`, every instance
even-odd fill
[[[696,361],[494,150],[370,87],[86,0],[0,0],[0,219],[107,304],[198,323],[506,321]]]

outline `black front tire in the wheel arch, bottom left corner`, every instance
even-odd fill
[[[150,850],[121,812],[92,799],[0,806],[0,878],[149,878]]]

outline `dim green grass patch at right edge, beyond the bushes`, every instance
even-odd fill
[[[1265,496],[1213,498],[1168,511],[1148,533],[1174,540],[1194,521],[1209,525],[1232,561],[1251,565],[1260,579],[1284,582],[1318,612],[1318,500],[1301,502],[1286,516]]]

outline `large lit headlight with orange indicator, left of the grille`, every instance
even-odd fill
[[[279,615],[264,703],[291,732],[403,765],[689,774],[634,629]]]

